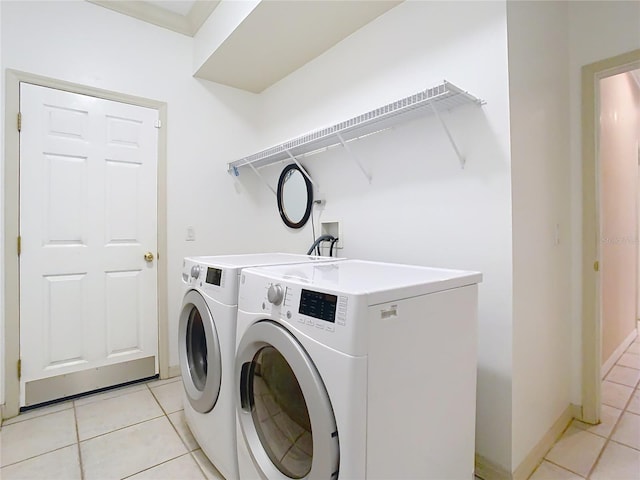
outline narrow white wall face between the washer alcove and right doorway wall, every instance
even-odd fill
[[[565,2],[509,2],[515,470],[570,404]],[[540,28],[544,25],[544,28]]]

